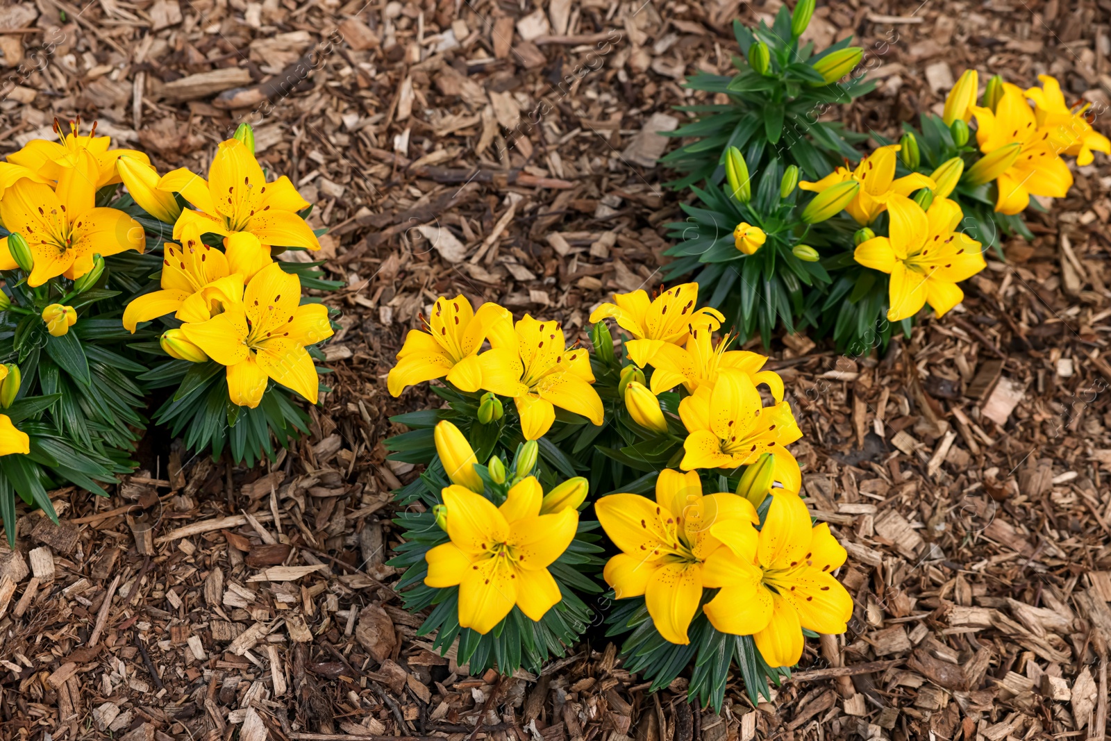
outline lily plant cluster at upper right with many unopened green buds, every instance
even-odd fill
[[[867,137],[833,137],[824,120],[868,91],[862,50],[843,39],[811,57],[800,36],[813,9],[799,0],[771,27],[737,23],[735,74],[687,79],[729,102],[685,107],[693,120],[674,132],[685,143],[661,160],[684,174],[672,184],[695,196],[681,204],[687,220],[669,224],[678,244],[664,274],[693,274],[743,340],[811,327],[864,354],[895,331],[909,337],[927,304],[935,317],[959,304],[958,283],[987,266],[982,253],[1002,259],[1005,236],[1031,239],[1023,212],[1069,192],[1064,158],[1089,164],[1093,152],[1111,154],[1111,141],[1092,128],[1089,104],[1068,103],[1048,74],[1040,87],[998,74],[981,87],[968,70],[941,117],[923,113],[898,141],[873,132],[874,149],[861,153]],[[799,76],[814,71],[828,72],[829,94],[807,109],[811,121],[798,107],[809,100]]]

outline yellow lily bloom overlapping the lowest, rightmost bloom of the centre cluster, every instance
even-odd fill
[[[755,548],[760,522],[743,497],[704,497],[697,471],[660,471],[655,502],[640,494],[610,494],[594,512],[613,544],[621,549],[602,572],[617,599],[644,597],[655,629],[672,643],[688,644],[687,630],[702,600],[703,567],[729,543]],[[725,550],[729,550],[728,548]]]

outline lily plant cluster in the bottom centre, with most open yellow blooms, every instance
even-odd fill
[[[783,380],[698,307],[697,283],[618,293],[568,346],[557,322],[440,297],[410,330],[390,392],[434,381],[447,404],[393,418],[412,430],[391,457],[427,468],[397,492],[392,563],[439,649],[534,670],[595,614],[631,671],[659,688],[691,668],[720,707],[731,665],[767,694],[808,635],[845,630],[845,551],[800,497]]]

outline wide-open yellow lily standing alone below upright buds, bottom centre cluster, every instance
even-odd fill
[[[424,554],[424,583],[458,585],[459,624],[479,633],[490,632],[513,605],[530,620],[543,618],[563,598],[548,567],[574,539],[579,513],[540,514],[536,479],[510,489],[500,508],[460,485],[448,487],[442,495],[451,542]]]

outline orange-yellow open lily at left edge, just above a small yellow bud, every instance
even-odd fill
[[[92,270],[93,254],[142,252],[147,244],[138,221],[123,211],[94,207],[97,160],[88,149],[76,157],[78,166],[62,170],[57,190],[23,179],[0,199],[0,221],[27,241],[34,258],[29,286],[42,286],[58,276],[74,280]],[[0,270],[17,267],[4,237]]]

